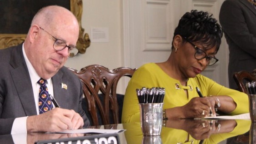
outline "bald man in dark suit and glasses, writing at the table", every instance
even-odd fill
[[[0,134],[56,132],[88,126],[82,86],[64,64],[75,48],[79,24],[60,6],[38,11],[23,44],[0,50]],[[60,105],[39,113],[40,84]],[[52,104],[48,100],[48,104]]]

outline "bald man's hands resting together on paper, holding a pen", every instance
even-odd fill
[[[44,114],[29,116],[26,124],[27,132],[58,132],[81,128],[84,121],[74,110],[55,108]]]

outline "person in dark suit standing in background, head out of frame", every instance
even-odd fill
[[[229,86],[237,89],[233,73],[256,69],[256,1],[225,0],[220,24],[229,45]]]

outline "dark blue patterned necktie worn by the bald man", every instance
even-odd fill
[[[38,84],[40,84],[39,89],[39,114],[43,114],[44,112],[47,112],[48,110],[52,109],[52,102],[49,97],[48,88],[46,86],[46,80],[45,79],[39,79]]]

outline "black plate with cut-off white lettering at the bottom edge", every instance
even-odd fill
[[[97,134],[75,138],[39,140],[35,144],[120,144],[117,134]]]

